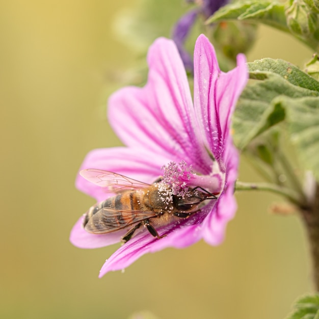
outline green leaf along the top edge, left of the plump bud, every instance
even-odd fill
[[[261,22],[274,26],[282,31],[289,32],[286,24],[284,4],[270,1],[250,1],[229,4],[215,12],[206,23],[224,20],[246,20]]]

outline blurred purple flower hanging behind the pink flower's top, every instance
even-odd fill
[[[198,15],[203,15],[205,19],[228,3],[228,0],[187,0],[187,2],[197,3],[199,8],[193,9],[184,14],[175,24],[172,39],[176,43],[180,57],[187,70],[193,72],[193,62],[190,54],[184,48],[184,43],[194,25]]]

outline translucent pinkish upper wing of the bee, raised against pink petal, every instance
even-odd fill
[[[150,185],[121,174],[94,168],[82,170],[79,174],[88,181],[104,188],[106,192],[112,193],[126,190],[140,190]]]

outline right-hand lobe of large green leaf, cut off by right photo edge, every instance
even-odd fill
[[[285,108],[290,140],[296,146],[303,166],[319,180],[319,97],[280,96],[274,103]],[[311,303],[319,305],[318,298],[311,299]]]

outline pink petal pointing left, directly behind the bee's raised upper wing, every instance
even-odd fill
[[[161,167],[169,161],[169,158],[147,150],[127,147],[100,148],[87,154],[79,171],[96,168],[152,183],[162,175]],[[78,190],[94,197],[98,202],[110,197],[103,188],[80,175],[77,175],[75,184]]]

